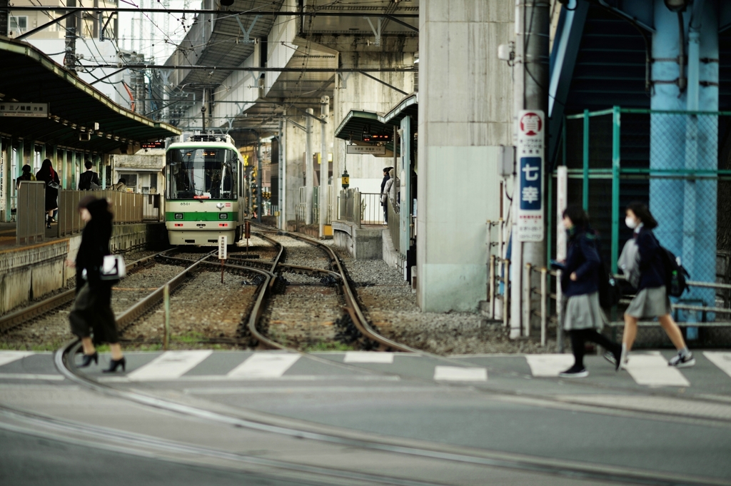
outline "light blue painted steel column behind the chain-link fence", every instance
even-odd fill
[[[719,100],[718,4],[696,0],[693,11],[683,14],[683,45],[689,57],[688,86],[681,92],[677,83],[678,15],[663,0],[655,0],[652,79],[653,110],[715,112]],[[700,60],[704,61],[701,62]],[[708,60],[711,61],[708,61]],[[714,61],[715,60],[715,61]],[[714,115],[653,113],[650,142],[651,169],[715,170],[718,167],[718,118]],[[655,234],[663,246],[681,256],[692,280],[716,278],[716,180],[660,179],[650,181],[650,209],[659,222]],[[692,289],[683,300],[714,305],[713,289]],[[681,320],[700,320],[700,313],[680,314]],[[713,315],[707,316],[713,319]]]

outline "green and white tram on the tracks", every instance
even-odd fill
[[[229,135],[182,134],[165,153],[165,227],[171,245],[229,244],[243,225],[243,159]]]

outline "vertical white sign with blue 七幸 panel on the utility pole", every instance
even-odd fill
[[[545,234],[545,114],[542,110],[518,113],[518,241],[539,242]]]

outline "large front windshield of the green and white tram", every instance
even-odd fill
[[[226,148],[167,152],[167,199],[235,200],[238,154]]]

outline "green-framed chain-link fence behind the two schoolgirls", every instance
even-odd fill
[[[558,164],[568,172],[570,204],[583,205],[602,238],[602,254],[617,273],[617,259],[632,230],[629,202],[645,202],[659,221],[663,246],[681,257],[692,281],[730,284],[731,113],[623,109],[567,115]],[[548,187],[555,221],[556,178]],[[555,231],[549,224],[551,232]],[[555,240],[551,234],[549,242]],[[549,243],[549,255],[555,254]],[[730,322],[731,314],[695,308],[730,308],[730,291],[694,286],[676,302],[679,321]],[[619,309],[618,316],[621,316]],[[662,331],[661,331],[662,332]],[[731,328],[706,326],[699,338],[731,344]],[[667,338],[666,338],[667,339]]]

